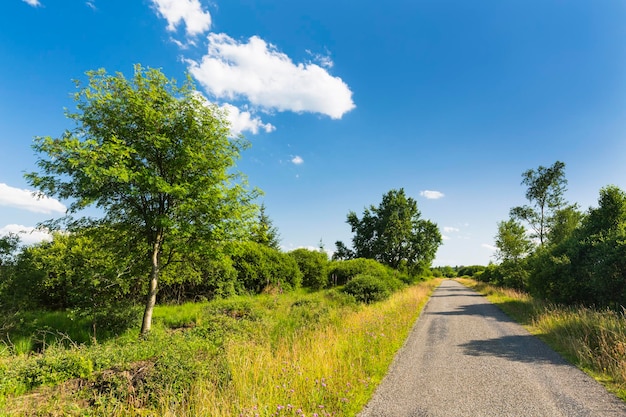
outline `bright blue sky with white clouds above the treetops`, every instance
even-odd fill
[[[624,22],[618,0],[5,0],[0,233],[64,210],[23,174],[72,127],[72,80],[140,63],[229,110],[285,250],[350,243],[346,214],[404,188],[436,265],[486,264],[523,171],[565,162],[583,209],[626,189]]]

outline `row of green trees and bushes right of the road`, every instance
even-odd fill
[[[473,274],[558,303],[626,306],[626,193],[600,190],[581,211],[564,199],[565,164],[523,174],[528,204],[498,223],[497,264]]]

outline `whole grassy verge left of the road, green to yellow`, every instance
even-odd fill
[[[371,305],[330,290],[163,306],[146,339],[4,350],[0,415],[353,416],[439,283]]]

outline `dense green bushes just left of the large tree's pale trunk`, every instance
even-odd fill
[[[17,256],[14,279],[4,297],[20,309],[67,309],[91,323],[96,332],[119,332],[136,320],[135,269],[139,263],[105,227],[55,233],[50,242],[25,247]],[[117,242],[115,242],[117,244]]]

